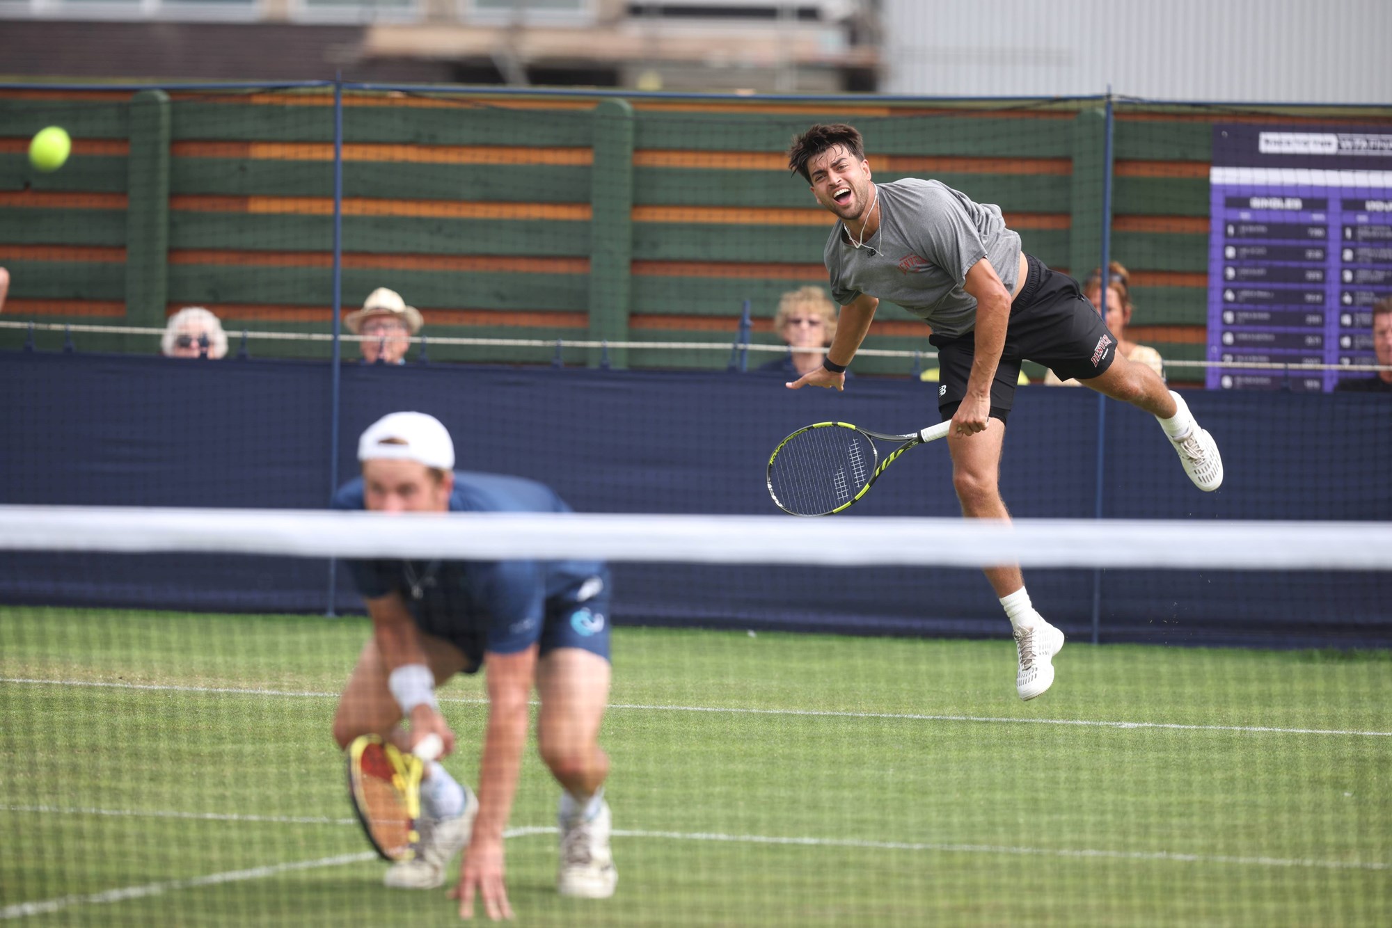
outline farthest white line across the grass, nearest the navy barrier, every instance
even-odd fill
[[[228,693],[234,696],[292,696],[310,698],[337,698],[338,693],[315,693],[294,690],[256,690],[223,686],[174,686],[163,683],[111,683],[100,680],[43,680],[31,678],[0,676],[0,683],[26,683],[38,686],[96,686],[121,690],[167,690],[173,693]],[[487,700],[465,697],[440,697],[441,703],[466,703],[483,705]],[[535,700],[533,700],[535,703]],[[1392,737],[1392,732],[1363,732],[1357,729],[1329,728],[1275,728],[1270,725],[1180,725],[1178,722],[1108,722],[1100,719],[1073,718],[1011,718],[994,715],[920,715],[913,712],[839,712],[832,710],[761,710],[718,705],[644,705],[639,703],[611,703],[611,710],[639,710],[650,712],[728,712],[734,715],[798,715],[809,718],[880,718],[908,722],[981,722],[995,725],[1072,725],[1082,728],[1114,729],[1168,729],[1175,732],[1247,732],[1270,735],[1356,735],[1360,737]]]

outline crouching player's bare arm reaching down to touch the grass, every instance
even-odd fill
[[[528,696],[536,678],[537,646],[518,654],[484,655],[489,687],[489,728],[479,771],[479,815],[459,864],[459,882],[450,896],[459,900],[459,917],[473,918],[473,897],[489,918],[512,918],[504,882],[503,829],[507,828],[526,744]]]

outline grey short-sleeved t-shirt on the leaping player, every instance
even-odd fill
[[[839,305],[870,294],[903,306],[934,334],[956,338],[976,328],[976,298],[962,288],[973,264],[988,257],[1015,292],[1020,237],[1005,227],[999,206],[916,177],[876,189],[880,228],[866,248],[852,246],[839,221],[827,239],[823,260]]]

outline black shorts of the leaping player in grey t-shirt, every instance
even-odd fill
[[[1029,275],[1011,303],[1005,348],[991,381],[991,419],[1002,423],[1015,403],[1020,362],[1033,360],[1054,370],[1062,380],[1090,380],[1112,366],[1116,337],[1107,331],[1101,314],[1083,296],[1077,281],[1051,271],[1033,255],[1025,256]],[[944,420],[956,415],[966,397],[976,356],[976,333],[960,338],[930,335],[938,349],[938,412]]]

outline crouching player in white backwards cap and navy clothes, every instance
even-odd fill
[[[398,412],[372,424],[358,442],[362,476],[341,487],[335,509],[377,512],[569,512],[546,486],[454,472],[454,442],[440,422]],[[400,750],[429,733],[445,754],[454,733],[436,687],[486,666],[489,721],[477,797],[436,761],[420,786],[420,842],[412,860],[393,864],[386,883],[429,889],[468,847],[451,896],[473,915],[477,893],[490,918],[511,918],[503,867],[503,829],[516,792],[533,683],[541,708],[541,760],[561,783],[562,895],[603,899],[618,879],[610,853],[603,783],[608,757],[599,747],[608,700],[608,569],[597,561],[355,561],[349,569],[372,614],[373,636],[358,657],[334,717],[347,747],[377,733]],[[401,721],[411,722],[409,732]]]

